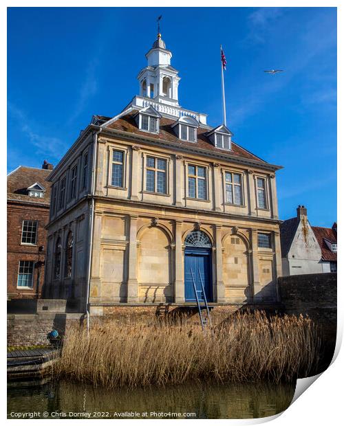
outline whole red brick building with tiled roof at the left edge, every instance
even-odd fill
[[[19,166],[7,178],[8,299],[39,298],[44,279],[52,164]]]

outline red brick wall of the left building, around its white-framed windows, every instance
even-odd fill
[[[38,221],[37,243],[34,246],[21,245],[21,229],[23,220]],[[7,291],[10,298],[36,298],[38,269],[34,268],[34,284],[31,289],[18,289],[18,269],[20,260],[45,260],[47,245],[47,231],[45,226],[49,221],[49,206],[29,205],[25,203],[8,202],[7,209]],[[44,250],[39,253],[39,247],[43,245]],[[39,296],[44,280],[44,266],[41,267],[39,280]]]

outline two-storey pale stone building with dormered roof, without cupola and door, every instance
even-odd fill
[[[140,106],[136,97],[120,115],[94,116],[50,176],[45,297],[74,299],[94,315],[120,304],[186,304],[186,238],[199,232],[208,241],[210,302],[277,301],[280,167],[235,144],[226,127],[208,126],[206,115],[160,98],[142,98]],[[140,128],[149,114],[158,120],[153,131]],[[195,140],[181,139],[178,126],[189,126]],[[216,146],[215,135],[230,148]],[[163,189],[152,190],[149,179],[159,173]],[[237,188],[229,188],[231,179]],[[193,181],[202,196],[191,192]]]

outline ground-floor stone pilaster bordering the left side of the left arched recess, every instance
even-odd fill
[[[137,263],[138,263],[138,216],[130,216],[130,230],[129,230],[129,270],[128,270],[128,281],[127,281],[127,302],[137,303],[138,302],[138,274],[137,274]]]

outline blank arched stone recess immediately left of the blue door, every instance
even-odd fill
[[[165,227],[138,232],[138,292],[140,302],[172,302],[171,236]]]

